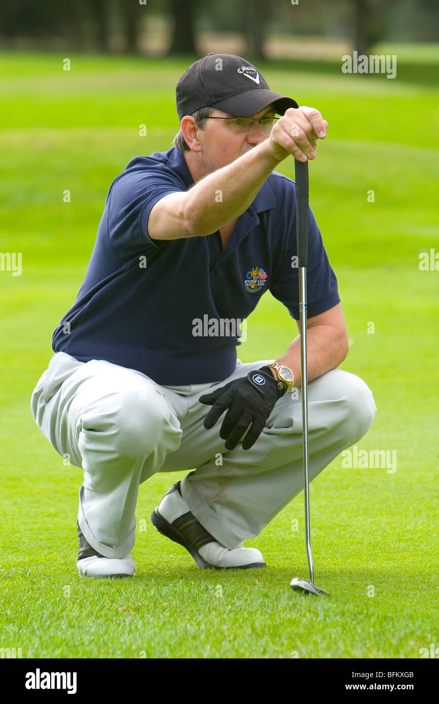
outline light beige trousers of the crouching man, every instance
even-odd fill
[[[187,470],[183,498],[229,549],[262,529],[303,488],[300,389],[279,399],[249,450],[225,449],[224,415],[206,430],[207,389],[247,376],[271,360],[242,364],[218,384],[159,386],[141,372],[55,353],[32,394],[39,429],[82,467],[78,520],[90,545],[120,558],[135,543],[139,485],[155,472]],[[308,384],[309,474],[321,472],[371,427],[376,406],[359,377],[331,370]],[[192,471],[191,471],[192,470]],[[152,505],[151,510],[155,507]]]

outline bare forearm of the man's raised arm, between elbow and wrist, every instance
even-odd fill
[[[197,182],[185,197],[192,234],[203,237],[239,218],[279,161],[266,140]]]

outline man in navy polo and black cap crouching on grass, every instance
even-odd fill
[[[84,470],[86,577],[135,573],[137,494],[156,472],[189,473],[154,526],[217,569],[264,567],[243,543],[303,484],[299,337],[243,364],[236,329],[200,337],[194,321],[245,320],[271,291],[299,324],[295,184],[275,169],[314,159],[328,123],[228,54],[187,69],[177,112],[175,146],[133,158],[111,184],[84,282],[32,395],[39,428]],[[364,436],[376,406],[364,381],[337,369],[347,332],[311,209],[308,259],[314,479]]]

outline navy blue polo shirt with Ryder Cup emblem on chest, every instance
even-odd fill
[[[219,232],[151,239],[154,204],[192,184],[175,147],[135,157],[116,177],[84,282],[54,331],[54,351],[136,369],[158,384],[219,382],[235,370],[239,321],[266,291],[299,319],[294,182],[271,173],[225,250]],[[307,282],[309,318],[340,302],[311,208]],[[273,359],[284,352],[273,349]]]

